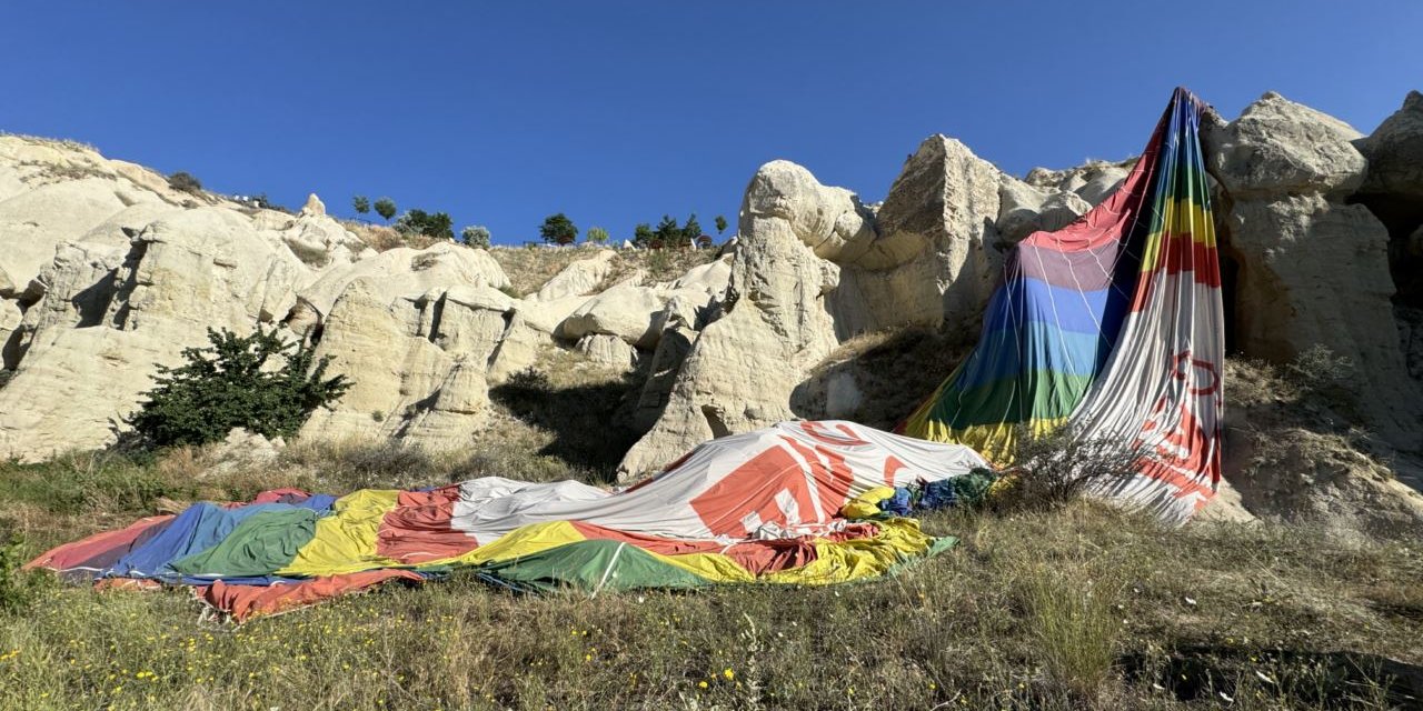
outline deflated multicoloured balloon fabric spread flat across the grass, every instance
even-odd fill
[[[783,422],[706,442],[616,493],[498,476],[340,498],[283,489],[147,518],[27,567],[104,586],[194,586],[238,620],[453,570],[519,590],[595,594],[830,584],[889,574],[952,546],[885,515],[874,496],[985,465],[962,445],[841,421]],[[847,505],[861,516],[847,518]]]

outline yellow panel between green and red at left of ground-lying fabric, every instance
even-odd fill
[[[376,533],[397,496],[396,489],[361,489],[336,499],[332,515],[317,519],[312,540],[276,574],[334,576],[398,567],[398,562],[376,555]]]

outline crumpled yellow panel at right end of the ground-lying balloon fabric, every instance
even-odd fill
[[[914,519],[879,523],[879,535],[868,539],[817,542],[815,560],[808,566],[770,573],[761,580],[791,584],[832,584],[878,577],[896,563],[929,549],[931,538]]]

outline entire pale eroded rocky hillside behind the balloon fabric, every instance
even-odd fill
[[[1215,508],[1416,526],[1423,95],[1368,137],[1278,94],[1212,118],[1234,373],[1261,385],[1271,367],[1333,364],[1328,388],[1227,402],[1234,486]],[[1019,179],[935,135],[869,206],[773,161],[747,186],[736,243],[669,273],[652,263],[666,257],[612,250],[532,267],[522,249],[377,252],[314,196],[299,215],[255,209],[85,146],[0,137],[0,455],[107,445],[155,365],[208,327],[259,323],[354,377],[309,438],[461,448],[508,414],[491,387],[568,357],[626,385],[625,479],[778,419],[892,425],[972,343],[1006,247],[1070,223],[1128,168]]]

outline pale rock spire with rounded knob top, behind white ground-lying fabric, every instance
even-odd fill
[[[874,239],[858,201],[776,161],[751,179],[739,226],[734,300],[692,344],[662,415],[619,465],[620,479],[713,437],[793,418],[791,391],[837,344],[825,294],[840,270],[820,255],[862,252],[859,242]]]

